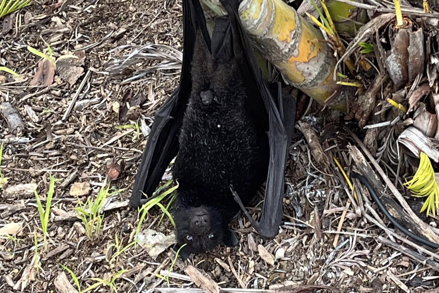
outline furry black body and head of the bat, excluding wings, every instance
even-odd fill
[[[212,56],[201,33],[197,34],[191,97],[173,167],[173,177],[179,182],[174,213],[177,239],[179,245],[187,243],[187,252],[207,251],[230,242],[227,225],[239,210],[230,184],[248,204],[267,176],[268,137],[261,128],[267,117],[255,117],[253,111],[258,105],[265,109],[247,96],[240,60],[227,55],[226,51]],[[217,102],[203,102],[202,93],[208,90]],[[190,224],[200,211],[194,208],[199,207],[210,219],[201,233]],[[214,237],[209,239],[212,233]]]

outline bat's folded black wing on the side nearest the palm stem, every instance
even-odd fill
[[[270,146],[270,164],[266,180],[265,200],[259,223],[252,220],[235,193],[235,199],[247,214],[256,231],[264,238],[272,239],[278,233],[282,217],[282,199],[284,194],[284,170],[295,123],[295,100],[289,95],[282,95],[280,83],[277,83],[274,94],[263,80],[262,73],[256,63],[251,43],[246,36],[238,15],[240,0],[219,0],[227,11],[233,34],[235,56],[242,54],[248,66],[248,74],[244,76],[248,96],[260,97],[269,116],[268,140]],[[256,85],[256,87],[255,87]],[[253,91],[253,92],[252,92]]]

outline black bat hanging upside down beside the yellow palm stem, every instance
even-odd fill
[[[212,37],[199,0],[183,0],[179,87],[156,112],[130,205],[144,203],[170,161],[179,182],[173,216],[180,256],[234,246],[228,224],[244,211],[263,238],[278,233],[295,100],[268,84],[238,16],[240,0],[220,0]],[[245,210],[266,181],[259,222]],[[151,197],[150,197],[151,198]]]

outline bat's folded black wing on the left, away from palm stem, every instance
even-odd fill
[[[201,17],[200,17],[201,16]],[[183,64],[180,84],[164,105],[157,111],[148,137],[142,161],[137,171],[130,206],[142,204],[142,193],[150,196],[162,179],[166,167],[178,152],[178,135],[192,89],[191,62],[195,36],[201,29],[210,48],[202,7],[198,1],[183,1]]]

